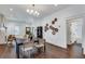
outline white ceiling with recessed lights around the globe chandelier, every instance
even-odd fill
[[[20,21],[26,21],[29,18],[41,20],[68,7],[69,5],[67,4],[58,4],[57,7],[54,4],[36,4],[34,7],[32,7],[32,4],[0,4],[0,14],[4,14],[6,17]],[[13,9],[13,11],[10,11],[10,9]],[[27,9],[38,11],[40,15],[30,15],[26,12]]]

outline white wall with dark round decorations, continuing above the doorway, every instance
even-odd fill
[[[80,9],[79,9],[80,8]],[[70,17],[76,17],[82,16],[85,13],[85,7],[84,5],[71,5],[67,9],[63,9],[61,11],[58,11],[49,16],[46,16],[42,20],[42,22],[39,23],[39,25],[45,26],[46,23],[51,25],[51,22],[57,17],[58,22],[56,23],[56,27],[60,25],[59,33],[56,35],[52,35],[51,29],[46,33],[43,31],[44,38],[47,42],[53,43],[55,46],[67,48],[67,44],[69,43],[69,34],[67,28],[67,20]]]

